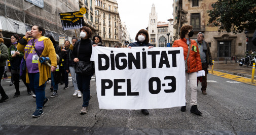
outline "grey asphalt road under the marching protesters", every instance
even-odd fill
[[[26,127],[40,125],[37,127],[42,127],[42,129],[47,126],[68,126],[64,129],[70,130],[74,130],[72,126],[76,126],[81,127],[81,130],[84,130],[83,133],[96,134],[107,133],[111,129],[116,130],[116,133],[125,132],[127,134],[256,133],[256,87],[215,75],[208,74],[207,95],[201,94],[201,85],[198,85],[198,109],[203,113],[202,116],[190,113],[191,106],[189,104],[186,112],[181,112],[179,107],[175,107],[152,109],[149,110],[150,115],[143,115],[140,110],[99,109],[95,80],[91,80],[92,99],[89,102],[87,114],[80,114],[83,99],[72,96],[74,87],[69,81],[69,88],[65,90],[63,89],[64,85],[59,85],[59,96],[56,98],[50,98],[52,92],[50,92],[50,84],[47,84],[46,97],[50,100],[43,109],[44,114],[39,118],[32,118],[35,99],[32,96],[27,96],[22,81],[20,82],[21,96],[13,98],[15,88],[9,86],[10,82],[8,81],[1,82],[9,100],[0,103],[0,134],[1,132],[12,133],[14,127],[24,128],[20,125],[27,125]],[[187,92],[187,101],[190,101],[189,95]],[[8,128],[5,125],[12,126]],[[59,127],[58,131],[65,131],[64,129]],[[134,132],[130,132],[131,130]],[[114,132],[110,131],[110,133]]]

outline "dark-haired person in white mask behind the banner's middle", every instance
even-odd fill
[[[128,48],[130,48],[130,49],[132,47],[149,47],[149,49],[153,48],[153,45],[151,43],[149,43],[149,41],[150,41],[149,33],[145,29],[139,30],[139,32],[136,34],[135,40],[136,40],[136,42],[130,43]],[[141,112],[145,115],[150,114],[147,109],[142,109]]]

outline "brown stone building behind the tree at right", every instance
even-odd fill
[[[205,34],[205,41],[209,43],[211,55],[218,57],[244,57],[245,51],[253,49],[251,38],[253,31],[249,33],[249,40],[246,43],[245,33],[218,32],[218,27],[208,25],[209,16],[207,10],[211,10],[211,5],[216,1],[210,0],[174,0],[174,39],[179,39],[180,28],[186,24],[192,25],[194,36],[197,38],[198,32]],[[255,49],[255,48],[254,48]]]

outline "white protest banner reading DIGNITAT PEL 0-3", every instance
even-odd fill
[[[100,109],[185,106],[182,48],[93,47]]]

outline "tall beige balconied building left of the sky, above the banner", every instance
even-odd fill
[[[95,22],[97,34],[106,47],[114,47],[121,40],[121,19],[118,3],[114,0],[95,0]]]

